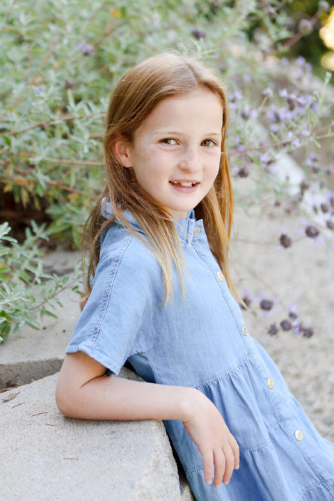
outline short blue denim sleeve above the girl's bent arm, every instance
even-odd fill
[[[150,331],[152,290],[145,245],[129,233],[120,242],[109,240],[66,353],[83,351],[118,374],[128,357],[145,351],[138,334]]]

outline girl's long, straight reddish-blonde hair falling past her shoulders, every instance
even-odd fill
[[[120,79],[109,102],[104,137],[106,187],[97,199],[85,229],[88,228],[90,261],[86,277],[86,293],[91,291],[90,277],[100,259],[100,235],[117,218],[133,234],[123,211],[130,210],[148,238],[148,245],[161,265],[164,276],[164,300],[173,298],[172,266],[176,266],[184,290],[182,268],[186,270],[180,239],[170,215],[138,185],[132,169],[123,167],[113,153],[119,137],[131,144],[134,131],[161,100],[184,95],[198,88],[207,88],[221,101],[223,126],[221,162],[218,176],[198,206],[197,219],[203,219],[209,247],[221,267],[230,290],[237,295],[229,272],[230,233],[232,229],[232,186],[225,152],[228,125],[228,107],[221,79],[207,65],[195,58],[164,53],[152,56],[128,70]],[[102,215],[102,201],[109,199],[114,215],[106,220]]]

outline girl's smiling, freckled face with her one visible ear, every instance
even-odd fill
[[[159,102],[134,132],[116,146],[125,167],[175,219],[184,219],[212,187],[221,160],[223,107],[207,88]]]

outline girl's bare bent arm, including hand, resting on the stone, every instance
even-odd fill
[[[83,419],[180,419],[202,454],[205,481],[228,483],[239,468],[239,447],[212,401],[195,388],[104,376],[86,355],[67,353],[56,387],[61,413]]]

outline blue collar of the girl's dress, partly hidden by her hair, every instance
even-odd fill
[[[106,219],[109,219],[113,216],[113,208],[111,206],[111,202],[106,198],[102,199],[102,216]],[[129,210],[124,210],[123,216],[125,220],[129,224],[131,224],[136,231],[138,231],[139,233],[144,233],[143,229],[141,229],[141,226],[139,226],[136,217],[132,212],[130,212]],[[122,226],[122,222],[119,219],[116,218],[115,222]],[[174,225],[180,238],[182,247],[189,247],[193,240],[193,236],[196,236],[198,234],[198,229],[200,229],[200,231],[204,229],[202,219],[196,221],[195,210],[193,209],[188,211],[185,219],[179,219],[178,221],[175,221]]]

